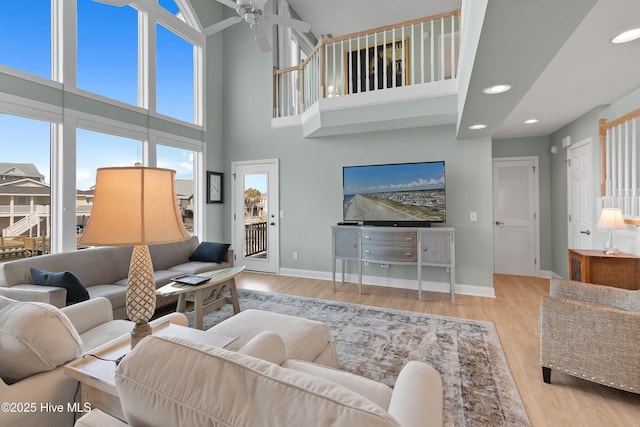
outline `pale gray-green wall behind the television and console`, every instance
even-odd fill
[[[302,137],[300,127],[271,129],[272,58],[260,53],[244,26],[225,32],[224,158],[280,161],[280,267],[331,270],[330,226],[342,219],[342,167],[345,165],[445,160],[447,224],[456,227],[456,281],[491,287],[493,227],[491,141],[456,140],[455,125],[343,135]],[[391,112],[390,112],[391,113]],[[231,191],[230,183],[225,191]],[[225,204],[225,221],[231,206]],[[469,212],[478,222],[469,221]],[[226,227],[230,238],[230,225]],[[291,253],[298,252],[298,260]],[[415,279],[415,268],[370,268],[365,274]],[[442,269],[425,280],[448,281]]]

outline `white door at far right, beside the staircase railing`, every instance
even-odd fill
[[[591,138],[569,146],[567,150],[567,212],[569,249],[591,249]]]

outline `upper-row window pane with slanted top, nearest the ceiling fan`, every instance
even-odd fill
[[[156,37],[156,110],[194,123],[194,47],[160,24],[156,26]]]

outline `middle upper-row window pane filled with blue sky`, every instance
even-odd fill
[[[78,88],[138,103],[138,12],[78,0]]]

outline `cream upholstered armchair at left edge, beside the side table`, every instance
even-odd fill
[[[167,320],[187,326],[181,313],[151,323]],[[0,296],[0,403],[8,405],[0,411],[0,426],[72,426],[75,414],[67,404],[78,401],[79,383],[64,375],[64,364],[132,328],[132,322],[113,320],[106,298],[58,309]],[[43,405],[63,410],[47,411]]]

